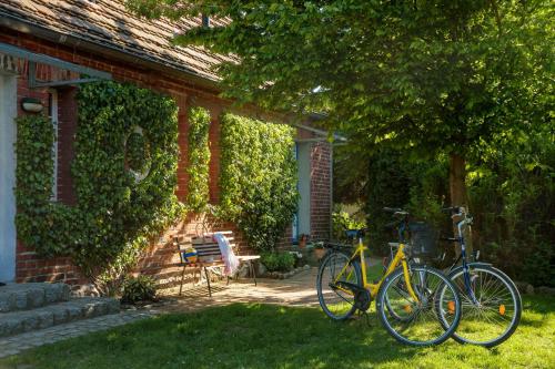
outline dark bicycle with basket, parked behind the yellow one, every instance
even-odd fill
[[[443,260],[445,254],[437,257],[437,233],[430,225],[410,222],[408,212],[400,208],[384,208],[384,211],[392,212],[397,217],[397,221],[390,225],[395,225],[400,242],[408,245],[410,263],[420,264],[423,259],[431,258]],[[472,217],[466,209],[454,206],[444,211],[452,214],[457,236],[443,239],[461,245],[461,254],[446,271],[448,279],[461,295],[463,306],[461,322],[452,337],[460,344],[497,346],[514,334],[521,321],[521,295],[507,275],[491,264],[477,262],[480,253],[472,258],[466,255],[464,232],[472,225]],[[397,245],[398,243],[390,243],[392,253]],[[391,257],[384,259],[384,267],[387,267],[390,260]],[[402,289],[403,286],[400,285],[397,288]],[[446,316],[445,312],[437,316]],[[447,329],[450,322],[443,320],[443,326]]]

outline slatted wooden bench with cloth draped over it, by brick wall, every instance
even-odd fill
[[[241,264],[248,264],[249,265],[249,271],[251,273],[252,279],[254,281],[254,286],[256,286],[256,274],[254,271],[254,266],[253,266],[253,260],[260,259],[260,255],[238,255],[239,254],[239,248],[236,244],[233,242],[233,232],[232,230],[221,230],[218,232],[221,233],[225,236],[228,242],[230,243],[231,248],[233,249],[233,253],[235,254],[236,258],[239,259],[240,265]],[[180,263],[179,266],[183,267],[183,270],[181,271],[181,284],[179,287],[179,295],[181,296],[183,291],[183,279],[185,277],[185,269],[186,267],[191,268],[200,268],[201,273],[204,270],[204,275],[206,277],[206,284],[208,284],[208,289],[209,289],[209,296],[212,297],[212,288],[210,286],[210,275],[209,270],[212,271],[214,267],[221,267],[224,265],[223,258],[222,258],[222,253],[220,252],[220,246],[218,245],[218,242],[213,237],[214,233],[206,233],[203,236],[194,236],[194,237],[180,237],[180,236],[174,236],[173,237],[173,244],[178,248],[178,253],[180,256]],[[196,256],[198,259],[195,263],[189,263],[184,256],[183,252],[188,247],[194,247],[196,250]],[[230,283],[230,277],[228,276],[228,284]]]

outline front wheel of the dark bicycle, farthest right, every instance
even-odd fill
[[[503,271],[487,264],[468,264],[473,301],[464,283],[464,269],[450,273],[461,295],[463,319],[453,338],[461,344],[493,347],[515,331],[522,315],[522,300],[515,284]]]

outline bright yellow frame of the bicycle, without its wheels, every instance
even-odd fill
[[[398,249],[397,249],[397,252],[395,254],[395,257],[390,263],[390,266],[387,267],[387,270],[384,273],[384,275],[382,276],[382,278],[376,284],[371,284],[371,283],[367,281],[367,278],[366,278],[366,263],[365,263],[365,259],[364,259],[364,252],[367,250],[369,248],[366,246],[364,246],[364,244],[362,242],[362,237],[359,237],[359,245],[356,246],[356,249],[354,250],[353,255],[351,256],[350,262],[354,262],[356,258],[360,258],[361,269],[362,269],[363,286],[364,286],[365,289],[367,289],[370,291],[370,295],[371,295],[372,298],[375,298],[375,296],[377,295],[377,291],[380,290],[380,287],[382,286],[382,283],[385,280],[385,278],[390,274],[392,274],[393,270],[395,270],[397,268],[397,266],[401,264],[403,266],[403,275],[404,275],[404,278],[405,278],[407,291],[408,291],[408,294],[411,295],[411,297],[416,303],[420,303],[418,297],[416,296],[416,294],[414,293],[414,289],[412,288],[410,266],[408,266],[408,263],[406,262],[406,255],[404,253],[404,248],[405,248],[404,244],[400,244],[398,245]],[[340,279],[341,276],[343,276],[343,274],[345,273],[345,269],[346,269],[347,266],[349,266],[349,264],[346,264],[343,267],[343,269],[337,274],[337,276],[336,276],[336,278],[334,280],[334,284],[337,283],[337,280]],[[349,277],[351,277],[351,274],[347,276],[347,278]],[[346,294],[352,294],[351,290],[347,290],[345,288],[337,287],[337,289],[341,289],[342,291],[344,291]]]

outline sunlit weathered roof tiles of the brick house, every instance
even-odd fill
[[[147,20],[128,11],[122,0],[2,0],[0,17],[6,16],[214,81],[213,68],[233,60],[201,47],[171,44],[175,32],[200,25],[200,18]]]

